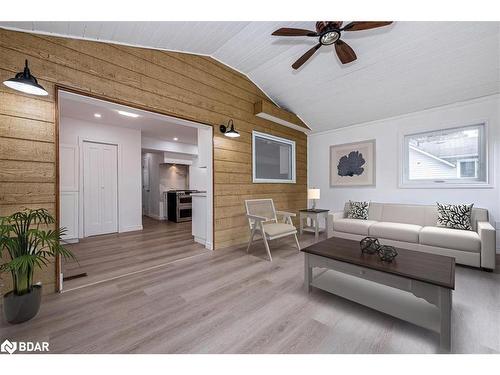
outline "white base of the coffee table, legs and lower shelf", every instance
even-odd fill
[[[320,269],[315,269],[319,267]],[[305,253],[305,287],[316,287],[440,334],[451,349],[451,290]]]

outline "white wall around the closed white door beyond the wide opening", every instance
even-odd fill
[[[76,162],[81,171],[81,142],[83,140],[118,145],[118,230],[127,232],[142,229],[141,207],[141,132],[140,130],[61,118],[60,143],[78,148]],[[65,171],[62,170],[61,174]],[[81,202],[81,174],[79,196]],[[79,205],[79,237],[83,236],[83,213]]]

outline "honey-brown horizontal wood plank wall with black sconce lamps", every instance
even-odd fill
[[[229,67],[204,56],[0,29],[0,80],[22,70],[25,58],[49,96],[0,85],[0,215],[22,207],[55,211],[55,85],[216,126],[216,249],[247,241],[245,199],[270,197],[278,209],[294,212],[306,206],[306,135],[256,117],[254,103],[269,98]],[[230,118],[240,138],[220,134],[218,125]],[[296,141],[296,184],[252,184],[254,129]],[[53,284],[53,269],[42,278]]]

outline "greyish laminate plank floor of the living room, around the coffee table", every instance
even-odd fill
[[[46,340],[53,353],[440,352],[436,333],[318,289],[307,294],[303,254],[277,241],[273,262],[260,241],[249,254],[207,252],[45,296],[33,320],[0,323],[0,339]],[[500,352],[499,286],[499,273],[457,267],[454,353]]]

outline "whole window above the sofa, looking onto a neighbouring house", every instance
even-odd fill
[[[485,124],[404,136],[403,186],[487,184]]]

